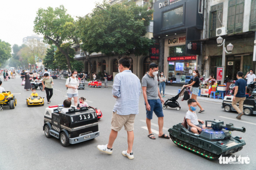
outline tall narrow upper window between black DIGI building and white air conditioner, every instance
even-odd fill
[[[209,37],[216,37],[216,28],[222,27],[222,11],[223,3],[211,6],[210,23],[209,23]]]

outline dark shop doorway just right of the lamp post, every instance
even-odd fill
[[[237,72],[240,71],[240,61],[228,61],[226,65],[226,75],[232,80],[237,80]]]

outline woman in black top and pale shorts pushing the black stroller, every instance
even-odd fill
[[[194,70],[192,75],[194,76],[194,80],[192,81],[191,84],[189,85],[184,85],[184,87],[189,87],[192,86],[192,95],[191,95],[191,99],[195,99],[198,96],[199,93],[199,87],[200,87],[200,74],[198,72],[198,70]],[[200,103],[196,100],[196,104],[198,107],[200,107],[200,111],[198,113],[202,113],[204,111],[203,107],[200,105]]]

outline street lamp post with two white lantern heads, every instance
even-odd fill
[[[223,42],[222,42],[223,41]],[[224,75],[225,75],[225,63],[226,63],[226,53],[227,54],[230,54],[232,53],[231,51],[233,50],[233,45],[230,43],[227,45],[227,48],[225,47],[225,42],[226,40],[222,37],[218,37],[217,38],[217,43],[220,44],[218,45],[218,47],[222,46],[223,45],[223,51],[222,51],[222,80],[221,80],[221,84],[223,85],[224,84]],[[230,52],[228,52],[230,51]]]

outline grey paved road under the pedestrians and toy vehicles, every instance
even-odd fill
[[[61,104],[66,99],[65,80],[54,80],[54,95],[50,105]],[[46,138],[42,130],[45,107],[26,107],[25,99],[31,91],[25,91],[21,79],[3,82],[3,87],[15,94],[18,105],[14,110],[4,107],[0,112],[0,170],[167,170],[167,169],[207,169],[207,170],[255,170],[256,169],[256,116],[243,116],[237,120],[236,113],[226,113],[220,103],[200,101],[206,110],[198,113],[202,120],[221,119],[234,126],[246,127],[246,133],[233,132],[245,139],[246,145],[233,155],[248,156],[249,164],[219,164],[218,160],[207,160],[187,150],[177,147],[171,140],[151,140],[147,137],[145,123],[145,105],[143,95],[140,96],[139,115],[135,122],[134,159],[129,160],[121,152],[127,149],[127,135],[124,129],[118,133],[113,146],[113,154],[99,152],[98,144],[107,144],[110,133],[112,108],[115,99],[111,88],[89,88],[79,90],[79,96],[87,99],[87,103],[102,110],[103,117],[99,120],[100,136],[94,140],[61,146],[56,138]],[[45,97],[45,92],[37,90]],[[165,97],[167,99],[168,96]],[[185,101],[179,101],[181,110],[167,108],[164,110],[164,133],[173,125],[182,122],[188,109]],[[157,118],[153,116],[152,129],[157,135]]]

